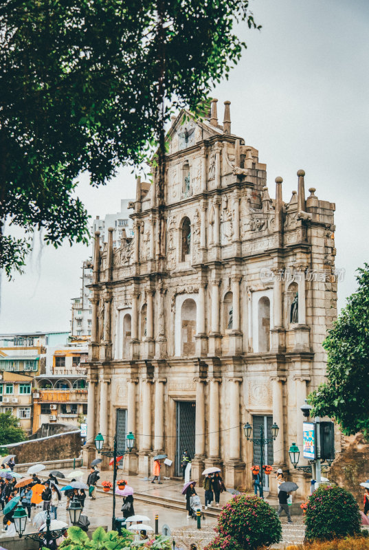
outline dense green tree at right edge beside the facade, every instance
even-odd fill
[[[314,416],[334,418],[344,434],[369,437],[369,265],[359,268],[357,292],[348,298],[323,347],[327,382],[309,396]]]

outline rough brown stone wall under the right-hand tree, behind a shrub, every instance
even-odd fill
[[[364,488],[360,487],[360,483],[369,479],[369,442],[360,433],[342,439],[342,452],[329,471],[329,481],[353,493],[362,508]]]

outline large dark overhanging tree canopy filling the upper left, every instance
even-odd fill
[[[0,2],[0,267],[22,270],[27,240],[87,242],[76,177],[106,184],[146,159],[170,108],[203,109],[245,44],[248,0]]]

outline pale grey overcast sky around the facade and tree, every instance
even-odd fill
[[[336,203],[336,267],[346,276],[339,306],[355,291],[355,270],[369,261],[369,2],[367,0],[254,0],[262,30],[240,25],[247,50],[230,80],[214,91],[223,120],[231,101],[232,133],[256,147],[267,164],[269,192],[284,179],[283,199],[305,188]],[[95,190],[80,178],[78,194],[94,218],[120,210],[135,196],[129,170]],[[26,273],[2,277],[0,331],[69,330],[70,299],[79,296],[82,245],[36,246]]]

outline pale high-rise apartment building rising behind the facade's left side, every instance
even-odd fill
[[[121,199],[120,212],[116,214],[107,214],[104,219],[97,216],[93,220],[91,234],[100,231],[100,243],[104,245],[108,240],[108,229],[113,228],[113,247],[120,246],[120,239],[126,232],[126,237],[133,237],[133,221],[128,212],[129,199]],[[71,335],[72,336],[91,336],[91,315],[92,307],[90,302],[91,289],[89,285],[92,282],[92,263],[91,258],[82,262],[82,287],[80,296],[71,299]]]

